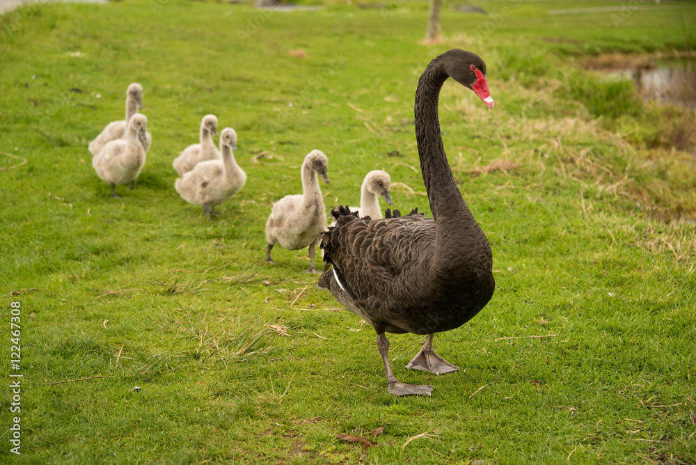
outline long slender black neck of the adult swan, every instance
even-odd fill
[[[445,70],[446,59],[442,55],[435,58],[418,81],[415,113],[420,169],[433,218],[448,216],[449,219],[470,220],[473,216],[452,176],[440,133],[438,99],[443,84],[450,77]]]

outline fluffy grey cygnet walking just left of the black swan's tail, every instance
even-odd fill
[[[303,194],[285,196],[274,203],[266,222],[267,262],[273,263],[271,249],[276,243],[288,250],[309,246],[311,265],[306,272],[317,273],[315,246],[319,242],[319,233],[326,229],[326,212],[317,175],[328,183],[328,166],[329,160],[324,152],[309,152],[301,168]]]

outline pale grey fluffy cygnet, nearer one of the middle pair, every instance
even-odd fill
[[[246,173],[239,168],[232,150],[237,148],[237,132],[226,127],[220,134],[221,160],[201,161],[181,178],[174,187],[189,203],[203,205],[205,215],[215,214],[215,206],[230,200],[244,187]],[[210,211],[208,211],[210,208]]]

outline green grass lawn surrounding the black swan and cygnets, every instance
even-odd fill
[[[443,8],[440,45],[418,44],[425,3],[264,14],[122,1],[1,17],[0,150],[14,157],[0,155],[0,459],[696,462],[696,170],[693,149],[655,129],[687,122],[688,133],[693,113],[621,107],[627,84],[582,69],[589,54],[693,49],[696,8],[635,11],[619,27],[607,13],[546,14],[567,6],[524,2],[486,40],[486,17]],[[329,157],[327,207],[358,202],[365,173],[384,169],[405,184],[396,208],[428,212],[413,93],[451,47],[487,61],[496,100],[489,111],[448,82],[440,117],[497,288],[436,337],[457,373],[404,370],[420,337],[390,336],[397,377],[435,386],[397,398],[374,331],[301,273],[306,250],[278,246],[278,265],[264,263],[264,223],[299,193],[313,148]],[[86,145],[122,117],[132,81],[153,143],[136,189],[114,200]],[[592,104],[599,91],[606,107]],[[248,175],[212,222],[176,194],[171,167],[205,113],[237,129]],[[22,310],[19,457],[8,446],[11,301]]]

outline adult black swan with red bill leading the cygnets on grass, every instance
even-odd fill
[[[384,333],[427,335],[406,368],[436,375],[459,370],[432,349],[434,333],[455,329],[491,299],[493,255],[454,181],[443,148],[438,97],[452,77],[472,89],[489,107],[486,64],[471,52],[452,49],[425,69],[416,90],[416,140],[420,168],[433,218],[414,210],[385,219],[358,219],[346,207],[331,210],[336,226],[322,235],[324,261],[333,265],[319,278],[345,308],[372,324],[394,395],[430,395],[432,386],[396,379]]]

